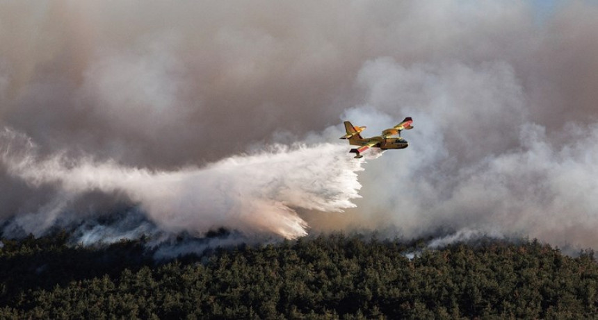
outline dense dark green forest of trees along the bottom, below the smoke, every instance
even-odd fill
[[[584,319],[592,251],[537,241],[423,249],[334,234],[156,262],[144,239],[2,239],[0,319]],[[417,252],[411,260],[406,253]]]

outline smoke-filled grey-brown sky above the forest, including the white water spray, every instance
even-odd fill
[[[598,245],[589,1],[0,6],[0,121],[23,143],[5,233],[130,201],[171,232]],[[405,116],[403,151],[362,164],[336,144],[344,119],[375,135]]]

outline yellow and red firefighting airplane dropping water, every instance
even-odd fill
[[[363,138],[359,133],[366,127],[353,126],[350,121],[345,121],[347,134],[342,136],[341,139],[348,139],[349,144],[360,146],[359,148],[351,149],[351,151],[349,151],[350,153],[355,153],[355,158],[362,158],[363,155],[361,155],[361,153],[370,148],[380,148],[382,150],[405,149],[409,146],[409,143],[401,137],[401,131],[412,129],[412,123],[413,120],[411,117],[406,117],[400,124],[382,131],[382,135],[379,135],[378,137]],[[398,135],[398,138],[391,137],[393,135]]]

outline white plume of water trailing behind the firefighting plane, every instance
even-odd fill
[[[163,230],[202,235],[225,227],[243,233],[275,234],[293,239],[307,235],[296,209],[340,212],[352,199],[360,161],[346,146],[316,144],[272,146],[252,155],[235,155],[205,167],[151,171],[113,161],[38,158],[29,138],[5,129],[2,162],[13,176],[33,187],[56,184],[60,196],[39,212],[22,214],[14,224],[42,234],[69,201],[85,192],[123,192]]]

